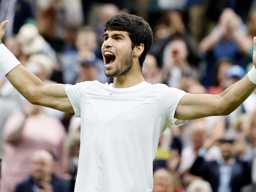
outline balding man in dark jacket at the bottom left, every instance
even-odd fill
[[[37,150],[31,158],[31,175],[14,192],[68,192],[64,180],[55,175],[55,159],[46,150]]]

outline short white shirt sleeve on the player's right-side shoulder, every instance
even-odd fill
[[[165,84],[161,84],[158,88],[158,94],[164,110],[167,124],[178,126],[182,125],[185,121],[174,118],[174,114],[180,100],[185,94],[188,93],[180,89],[168,87]]]

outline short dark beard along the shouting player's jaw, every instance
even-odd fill
[[[117,77],[120,75],[126,75],[131,70],[132,67],[132,51],[128,52],[120,62],[121,66],[117,66],[115,71],[113,71],[112,73],[108,73],[105,69],[105,75],[107,77]]]

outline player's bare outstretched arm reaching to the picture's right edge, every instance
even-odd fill
[[[244,78],[221,92],[219,95],[184,95],[177,106],[174,117],[186,120],[208,116],[228,115],[237,109],[256,88],[256,37],[254,37],[253,62],[254,67]]]

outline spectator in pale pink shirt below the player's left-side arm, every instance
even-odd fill
[[[3,130],[2,192],[12,192],[15,185],[29,174],[30,156],[36,150],[51,150],[59,159],[63,155],[64,127],[43,107],[27,102],[23,111],[13,114]],[[14,160],[15,159],[15,160]],[[62,162],[57,171],[61,171]]]

